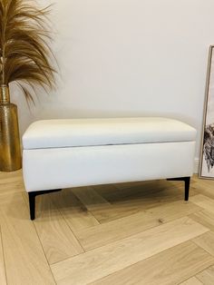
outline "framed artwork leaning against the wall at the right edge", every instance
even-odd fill
[[[209,46],[199,178],[214,180],[214,45]]]

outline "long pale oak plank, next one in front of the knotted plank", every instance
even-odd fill
[[[184,217],[51,266],[57,284],[87,284],[209,231]],[[82,274],[80,274],[80,268]]]

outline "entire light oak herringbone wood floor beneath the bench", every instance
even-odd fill
[[[214,284],[214,182],[137,182],[37,198],[0,172],[0,284]]]

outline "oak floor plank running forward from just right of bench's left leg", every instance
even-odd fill
[[[42,242],[50,264],[83,253],[83,248],[66,224],[61,213],[54,207],[51,194],[37,197],[34,226]]]

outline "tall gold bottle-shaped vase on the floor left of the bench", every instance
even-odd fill
[[[0,86],[0,172],[22,168],[17,106],[10,103],[9,87]]]

